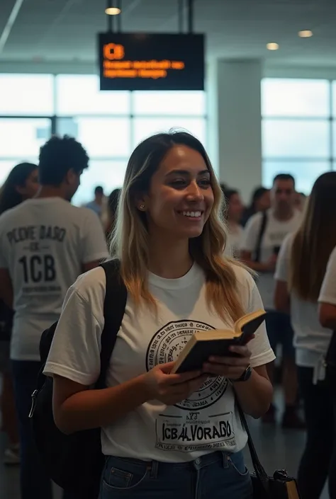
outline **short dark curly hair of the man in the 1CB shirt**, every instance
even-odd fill
[[[80,174],[88,166],[89,156],[77,140],[67,135],[51,137],[40,149],[40,184],[58,186],[69,170]]]

